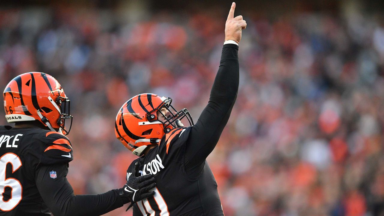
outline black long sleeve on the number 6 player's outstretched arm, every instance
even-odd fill
[[[51,178],[50,171],[56,171],[57,178]],[[97,195],[74,195],[67,173],[67,164],[41,166],[36,171],[36,186],[53,215],[95,216],[127,203],[120,198],[118,189]]]

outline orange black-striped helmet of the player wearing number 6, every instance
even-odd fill
[[[3,96],[9,123],[38,120],[51,131],[64,135],[70,132],[70,100],[51,75],[30,72],[16,76],[5,87]]]

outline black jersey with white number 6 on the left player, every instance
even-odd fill
[[[50,216],[36,188],[35,171],[72,160],[71,143],[61,133],[0,126],[0,216]],[[57,177],[55,170],[49,175]]]

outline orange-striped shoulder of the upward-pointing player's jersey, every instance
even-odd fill
[[[163,139],[161,141],[161,147],[165,148],[166,154],[169,154],[171,149],[178,148],[179,146],[184,145],[184,143],[186,143],[191,128],[192,126],[174,128],[163,136]]]

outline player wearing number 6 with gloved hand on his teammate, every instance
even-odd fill
[[[101,215],[153,196],[154,178],[130,178],[120,189],[74,195],[66,179],[73,147],[70,100],[52,76],[30,72],[15,77],[4,90],[5,118],[0,126],[0,215]]]

